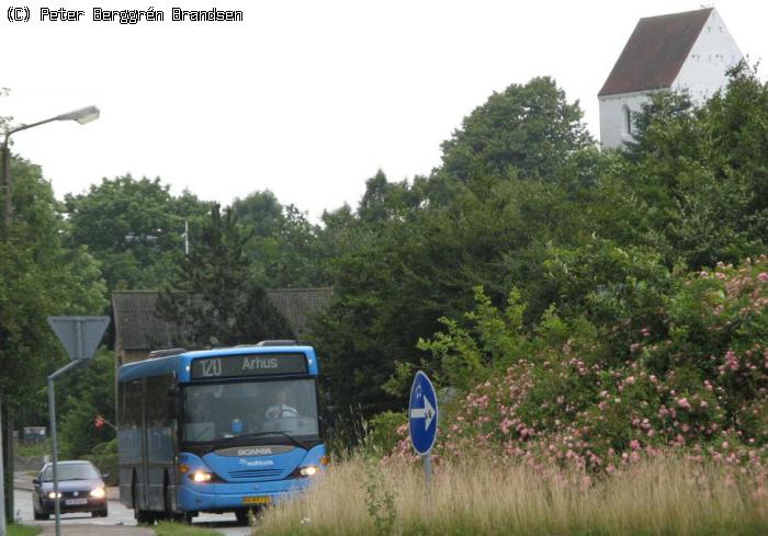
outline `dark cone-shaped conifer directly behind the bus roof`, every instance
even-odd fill
[[[214,205],[193,238],[195,247],[158,301],[158,313],[184,328],[187,340],[180,343],[206,347],[290,338],[287,321],[250,277],[251,232],[233,210]]]

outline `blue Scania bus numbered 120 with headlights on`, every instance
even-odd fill
[[[120,500],[139,523],[248,512],[305,489],[328,458],[318,365],[291,341],[154,352],[117,372]]]

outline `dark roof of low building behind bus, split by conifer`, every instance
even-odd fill
[[[267,290],[267,296],[298,337],[305,332],[309,318],[330,304],[334,289],[276,288]],[[157,299],[156,290],[112,293],[116,351],[170,347],[181,339],[181,327],[157,316]]]

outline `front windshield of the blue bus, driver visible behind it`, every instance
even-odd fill
[[[189,385],[183,390],[183,441],[258,437],[268,443],[318,438],[315,380]]]

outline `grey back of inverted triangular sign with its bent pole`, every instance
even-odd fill
[[[56,396],[54,379],[70,368],[86,363],[93,356],[104,331],[110,324],[110,317],[48,317],[48,326],[72,360],[67,366],[48,376],[48,415],[50,420],[50,443],[53,445],[54,468],[54,511],[56,513],[56,536],[61,535],[61,505],[58,492],[58,445],[56,443]]]

